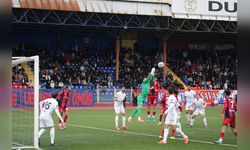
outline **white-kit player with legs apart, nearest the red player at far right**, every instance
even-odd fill
[[[205,108],[207,103],[201,98],[200,94],[196,94],[196,99],[194,100],[193,106],[195,107],[195,111],[192,115],[190,126],[192,127],[194,125],[194,118],[201,115],[204,126],[207,128],[207,119],[205,116]]]

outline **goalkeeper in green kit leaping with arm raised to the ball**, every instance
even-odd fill
[[[141,118],[141,111],[142,111],[142,106],[144,101],[147,99],[149,91],[150,91],[150,85],[153,84],[154,80],[154,74],[155,74],[155,68],[152,68],[150,75],[147,78],[144,78],[142,82],[142,91],[137,97],[137,107],[136,109],[131,113],[131,116],[128,118],[128,122],[132,122],[132,118],[135,116],[137,113],[138,119],[137,121],[140,123],[145,122]]]

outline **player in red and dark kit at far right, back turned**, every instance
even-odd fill
[[[236,126],[236,111],[237,111],[237,96],[232,95],[230,97],[231,92],[229,90],[226,90],[224,92],[225,99],[224,99],[224,107],[221,111],[221,115],[224,117],[222,128],[220,132],[220,138],[218,141],[214,141],[215,144],[222,144],[224,139],[224,133],[226,130],[226,127],[230,125],[232,132],[235,136],[237,136],[238,132],[235,129]]]

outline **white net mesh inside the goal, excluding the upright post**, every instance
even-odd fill
[[[12,148],[35,147],[34,61],[12,66]]]

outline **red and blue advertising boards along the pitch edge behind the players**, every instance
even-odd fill
[[[51,93],[60,92],[61,89],[43,89],[40,90],[39,99],[44,100],[51,97]],[[208,104],[223,104],[224,90],[195,90]],[[140,92],[140,90],[138,90]],[[185,90],[179,90],[179,96],[184,98]],[[34,104],[33,89],[13,89],[12,90],[12,107],[13,108],[31,108]],[[162,96],[168,94],[166,90],[160,90],[158,95],[158,103]],[[107,92],[104,95],[105,99],[110,99],[113,102],[114,93]],[[96,102],[96,93],[94,89],[72,89],[69,100],[69,107],[93,107]],[[146,104],[147,102],[145,102]]]

